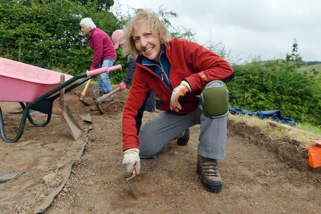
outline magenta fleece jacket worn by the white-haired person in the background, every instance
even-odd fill
[[[91,67],[97,68],[99,63],[106,59],[116,60],[116,51],[110,37],[99,28],[92,30],[92,35],[88,38],[88,44],[94,51]]]

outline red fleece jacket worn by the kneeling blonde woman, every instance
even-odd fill
[[[234,75],[227,61],[196,43],[184,39],[172,39],[165,46],[166,55],[171,64],[169,79],[173,89],[185,80],[190,84],[192,92],[183,97],[181,102],[184,104],[181,111],[171,111],[172,90],[154,72],[143,66],[142,56],[138,56],[133,82],[123,109],[123,150],[138,148],[139,138],[135,128],[135,116],[149,90],[162,100],[162,110],[186,115],[196,109],[198,104],[196,95],[201,93],[204,85],[212,80],[224,80]]]

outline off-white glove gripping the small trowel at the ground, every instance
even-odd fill
[[[125,165],[129,174],[132,174],[132,171],[135,169],[136,175],[138,175],[140,173],[139,149],[127,149],[124,151],[122,164]]]

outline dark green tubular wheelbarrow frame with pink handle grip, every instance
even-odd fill
[[[60,93],[57,93],[58,91],[60,91],[61,89],[65,88],[65,93],[70,92],[71,90],[73,90],[74,88],[80,86],[81,84],[83,84],[84,82],[87,82],[88,80],[90,80],[91,78],[93,78],[96,75],[102,74],[102,73],[106,73],[106,72],[110,72],[110,71],[114,71],[114,70],[118,70],[121,69],[121,65],[116,65],[116,66],[112,66],[112,67],[104,67],[104,68],[99,68],[99,69],[95,69],[92,71],[87,71],[86,73],[82,73],[82,74],[78,74],[74,77],[72,77],[71,79],[67,80],[66,82],[64,82],[63,84],[60,84],[59,86],[57,86],[56,88],[50,90],[49,92],[47,92],[46,94],[38,97],[37,99],[35,99],[32,102],[29,103],[24,103],[24,102],[19,102],[19,104],[21,105],[22,109],[23,109],[23,115],[21,118],[21,122],[20,122],[20,126],[19,126],[19,130],[18,133],[16,135],[16,137],[14,138],[8,138],[6,136],[6,132],[5,132],[5,125],[4,125],[4,119],[3,119],[3,113],[0,107],[0,132],[1,132],[1,137],[9,143],[14,143],[17,142],[25,129],[25,124],[26,124],[26,120],[28,118],[28,120],[30,121],[31,124],[33,124],[34,126],[37,127],[44,127],[46,126],[50,120],[51,120],[51,116],[52,116],[52,108],[53,108],[53,103],[54,101],[60,96]],[[82,79],[81,81],[69,86],[66,88],[66,86],[74,83],[75,81]],[[57,93],[56,95],[52,96],[53,94]],[[44,123],[37,123],[34,121],[34,119],[31,117],[31,115],[29,114],[29,110],[33,109],[33,110],[39,110],[43,113],[47,114],[47,120]]]

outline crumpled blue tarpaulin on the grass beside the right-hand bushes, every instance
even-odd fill
[[[231,114],[248,114],[250,116],[258,116],[260,119],[273,119],[277,122],[286,123],[292,126],[295,126],[296,123],[294,120],[288,117],[283,117],[281,115],[281,110],[268,110],[268,111],[256,111],[251,112],[248,110],[242,110],[240,108],[229,107],[229,112]]]

